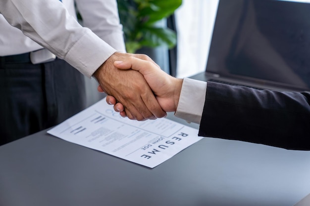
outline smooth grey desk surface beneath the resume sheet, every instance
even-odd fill
[[[153,169],[46,130],[0,147],[0,206],[293,206],[309,193],[310,152],[241,141],[204,138]]]

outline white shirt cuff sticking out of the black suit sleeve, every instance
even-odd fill
[[[200,124],[207,91],[207,82],[184,78],[175,117]]]

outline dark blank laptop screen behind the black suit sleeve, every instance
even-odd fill
[[[309,90],[310,3],[219,0],[206,71]]]

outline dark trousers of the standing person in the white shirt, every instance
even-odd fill
[[[84,77],[65,61],[0,63],[0,145],[85,109]]]

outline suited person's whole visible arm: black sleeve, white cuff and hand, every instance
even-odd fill
[[[155,63],[135,57],[116,61],[114,66],[143,74],[162,109],[200,124],[199,136],[310,150],[310,92],[182,80],[167,75]],[[112,96],[106,101],[122,117],[127,116],[123,105]]]

